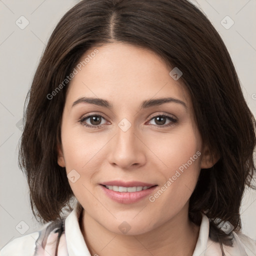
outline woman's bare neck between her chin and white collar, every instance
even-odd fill
[[[91,255],[192,256],[199,226],[189,220],[187,212],[180,211],[163,225],[146,233],[125,235],[107,230],[83,210],[80,227]]]

